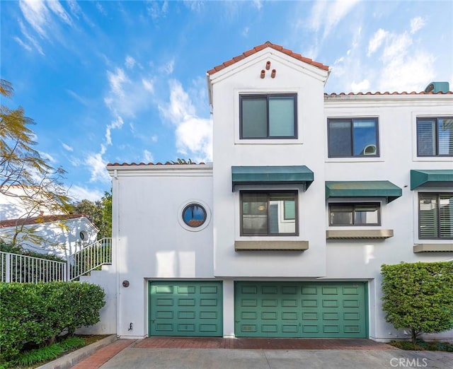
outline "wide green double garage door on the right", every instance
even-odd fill
[[[236,282],[236,336],[367,338],[364,282]]]

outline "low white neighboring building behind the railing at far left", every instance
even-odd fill
[[[25,250],[66,258],[96,242],[96,228],[84,214],[43,215],[0,221],[0,239],[6,244],[16,237]]]

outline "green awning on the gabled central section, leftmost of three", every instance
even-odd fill
[[[300,185],[306,188],[314,180],[314,172],[305,165],[232,166],[233,191],[236,185]]]

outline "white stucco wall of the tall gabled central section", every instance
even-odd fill
[[[265,78],[260,71],[270,61]],[[273,49],[265,49],[239,61],[231,69],[210,77],[214,116],[214,274],[236,277],[318,277],[326,274],[325,230],[322,224],[324,190],[314,184],[263,186],[259,189],[299,191],[299,235],[290,237],[244,237],[239,229],[238,186],[231,191],[232,165],[306,165],[315,172],[315,182],[323,183],[323,83],[327,71],[304,64]],[[247,93],[297,93],[297,139],[240,140],[239,95]],[[253,187],[257,189],[257,187]],[[310,211],[307,211],[310,209]],[[221,216],[218,216],[220,214]],[[235,252],[236,240],[305,240],[304,252]]]

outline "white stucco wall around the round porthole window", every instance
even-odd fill
[[[131,165],[109,169],[114,194],[117,334],[144,336],[148,333],[148,281],[214,277],[212,165]],[[202,230],[188,230],[181,225],[181,211],[190,202],[207,209],[208,223]],[[129,281],[130,285],[125,288],[122,281]]]

